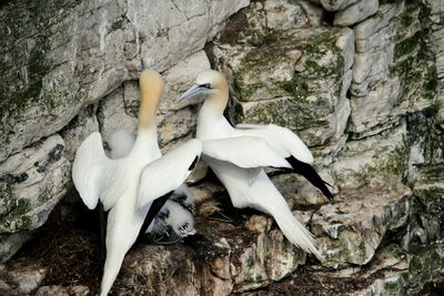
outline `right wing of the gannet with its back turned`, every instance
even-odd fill
[[[193,139],[148,164],[140,176],[138,208],[182,185],[199,161],[201,152],[201,141]]]

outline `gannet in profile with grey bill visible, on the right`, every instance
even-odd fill
[[[305,176],[327,198],[332,194],[311,166],[306,145],[285,127],[241,124],[233,127],[223,116],[229,100],[225,76],[213,70],[199,74],[195,84],[178,99],[206,94],[198,119],[196,137],[202,141],[202,160],[226,187],[235,207],[253,207],[274,217],[286,238],[322,258],[313,235],[293,216],[263,166],[286,167]]]

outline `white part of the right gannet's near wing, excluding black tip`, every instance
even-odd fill
[[[265,140],[258,136],[235,136],[203,141],[202,153],[243,169],[262,166],[291,167]]]

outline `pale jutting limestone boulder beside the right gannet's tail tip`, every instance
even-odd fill
[[[365,265],[384,234],[405,226],[411,191],[398,181],[374,180],[364,190],[343,191],[312,217],[312,232],[325,256],[323,266]]]

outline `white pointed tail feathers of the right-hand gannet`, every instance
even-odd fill
[[[312,253],[317,257],[317,259],[323,259],[323,256],[317,249],[316,242],[313,238],[313,234],[311,234],[305,226],[293,216],[290,210],[287,214],[283,215],[283,213],[280,213],[279,215],[273,215],[273,217],[285,237],[292,244],[307,253]]]

